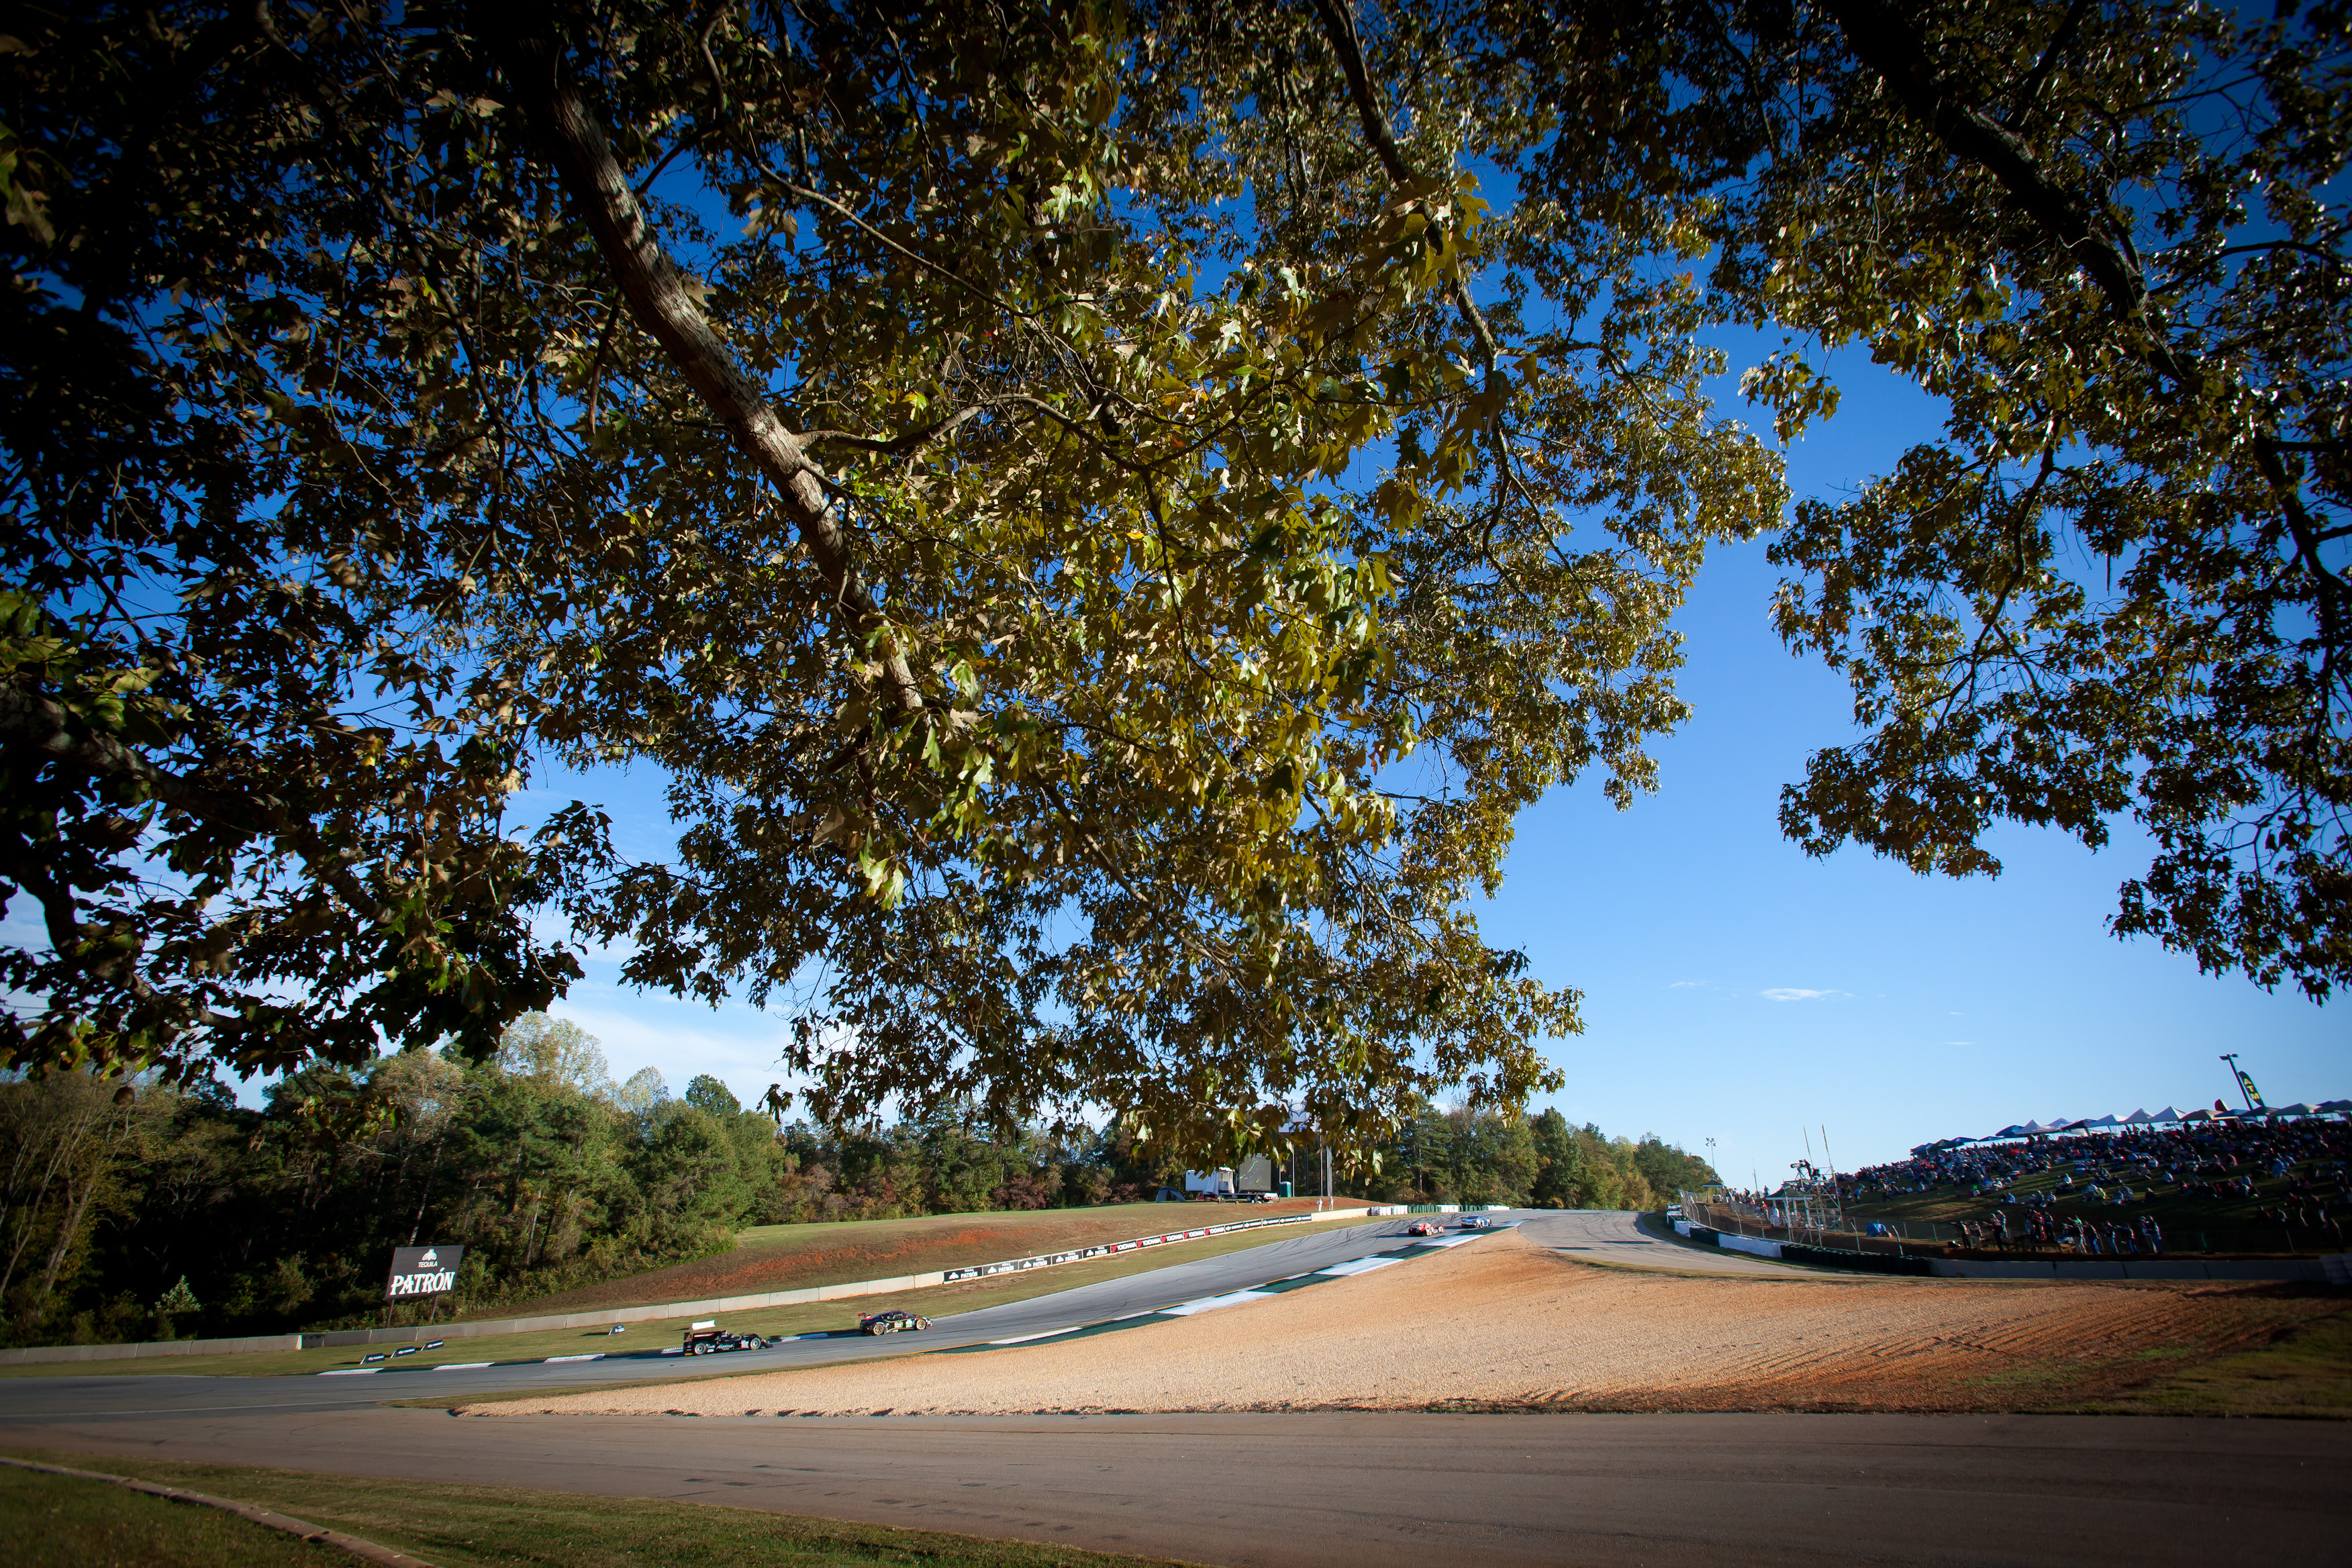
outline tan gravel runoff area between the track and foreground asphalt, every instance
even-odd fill
[[[2317,1293],[2220,1284],[1651,1274],[1576,1262],[1503,1232],[1058,1345],[461,1413],[2016,1410],[2122,1392],[2338,1307]]]

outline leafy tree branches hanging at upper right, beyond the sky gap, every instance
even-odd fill
[[[1757,160],[1712,226],[1731,313],[1950,404],[1773,543],[1780,630],[1865,729],[1785,792],[1809,851],[1997,875],[1994,820],[2129,816],[2157,858],[2117,936],[2352,978],[2345,26],[1832,0],[1708,45]],[[1755,388],[1835,407],[1802,348]]]

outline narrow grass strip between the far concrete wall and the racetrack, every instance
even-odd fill
[[[1162,1206],[1167,1213],[1167,1206]],[[1369,1220],[1327,1220],[1315,1227],[1324,1234],[1341,1225],[1367,1225]],[[1160,1269],[1171,1262],[1218,1258],[1254,1246],[1268,1246],[1303,1234],[1303,1227],[1242,1229],[1230,1237],[1202,1237],[1200,1241],[1171,1241],[1141,1253],[1115,1258],[1089,1258],[1087,1262],[1063,1262],[1051,1269],[1028,1269],[1023,1274],[997,1274],[955,1286],[931,1286],[927,1291],[896,1291],[889,1295],[856,1295],[833,1302],[809,1302],[802,1307],[764,1307],[757,1312],[729,1312],[724,1324],[736,1331],[769,1338],[788,1333],[818,1333],[833,1328],[856,1328],[861,1312],[884,1312],[901,1307],[924,1316],[948,1316],[953,1312],[978,1312],[981,1307],[1004,1307],[1054,1291],[1070,1291],[1103,1279],[1124,1279]],[[691,1316],[654,1319],[630,1324],[628,1333],[607,1335],[602,1328],[546,1328],[539,1333],[501,1333],[473,1340],[449,1340],[440,1349],[419,1352],[397,1361],[383,1361],[388,1371],[376,1382],[397,1385],[412,1368],[440,1366],[447,1361],[532,1361],[541,1356],[576,1356],[593,1352],[628,1352],[677,1345]],[[336,1368],[360,1366],[360,1356],[390,1352],[390,1345],[341,1345],[334,1349],[278,1349],[242,1356],[148,1356],[139,1361],[40,1361],[33,1366],[0,1366],[0,1378],[113,1378],[136,1375],[212,1375],[212,1378],[299,1378]],[[708,1368],[713,1356],[699,1359],[696,1371]],[[680,1361],[649,1361],[647,1378],[675,1378]]]

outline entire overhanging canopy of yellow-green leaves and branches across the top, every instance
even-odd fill
[[[21,16],[12,1063],[487,1058],[567,922],[828,1121],[1517,1105],[1576,994],[1470,903],[1764,531],[1799,842],[2131,816],[2119,933],[2352,973],[2340,7]],[[1780,437],[1849,343],[1947,428],[1790,520],[1724,327]]]

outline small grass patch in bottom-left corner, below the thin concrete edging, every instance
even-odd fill
[[[355,1561],[221,1509],[12,1465],[0,1465],[0,1540],[9,1542],[7,1561],[24,1568],[341,1568]]]

